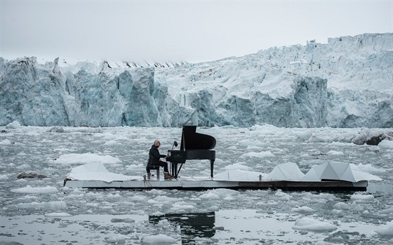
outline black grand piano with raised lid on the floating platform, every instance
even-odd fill
[[[174,145],[177,145],[175,142]],[[211,135],[196,133],[196,126],[183,126],[180,150],[168,150],[166,161],[171,162],[171,174],[178,178],[182,165],[187,159],[210,160],[211,178],[215,160],[215,138]],[[178,165],[180,166],[178,167]]]

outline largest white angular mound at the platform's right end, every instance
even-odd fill
[[[371,173],[352,170],[350,164],[332,161],[313,166],[301,179],[302,181],[345,180],[358,182],[361,180],[382,180]]]

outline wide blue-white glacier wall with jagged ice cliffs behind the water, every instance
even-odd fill
[[[393,127],[393,33],[200,63],[0,58],[0,126]]]

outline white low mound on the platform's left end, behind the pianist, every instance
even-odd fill
[[[91,163],[72,168],[71,173],[67,176],[71,180],[101,180],[107,183],[112,181],[134,180],[133,176],[124,176],[119,173],[110,173],[104,164]]]

